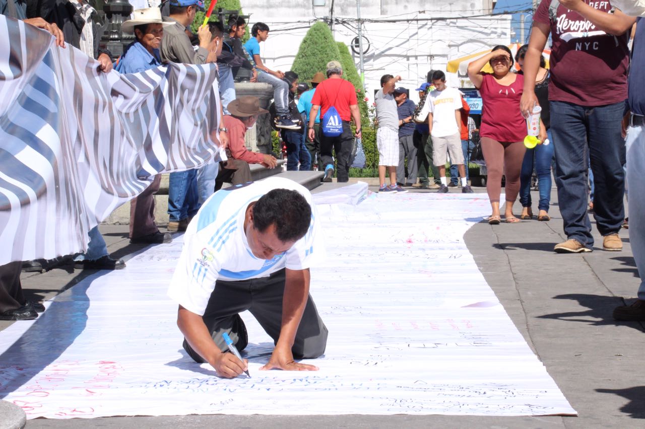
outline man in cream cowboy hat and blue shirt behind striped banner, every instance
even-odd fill
[[[119,73],[139,73],[161,66],[159,45],[163,28],[172,25],[163,22],[159,8],[137,9],[132,17],[121,25],[124,33],[134,33],[134,42],[117,61],[114,70]],[[160,184],[161,175],[155,175],[150,186],[130,201],[130,243],[172,242],[170,233],[161,233],[155,224],[154,194],[159,191]]]

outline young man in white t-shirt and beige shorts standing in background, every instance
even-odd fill
[[[432,158],[441,178],[441,187],[437,192],[448,192],[446,162],[450,155],[450,161],[459,171],[461,192],[470,194],[473,190],[466,182],[464,152],[461,148],[461,93],[456,88],[446,86],[446,75],[441,70],[432,73],[432,84],[435,90],[428,94],[425,106],[428,106],[430,113],[428,127],[433,143]]]

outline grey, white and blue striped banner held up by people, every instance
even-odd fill
[[[0,40],[0,265],[85,251],[157,173],[217,156],[213,64],[102,73],[4,15]]]

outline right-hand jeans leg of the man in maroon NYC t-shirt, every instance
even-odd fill
[[[591,109],[589,154],[595,188],[593,218],[602,236],[617,234],[625,219],[625,141],[620,133],[624,102]]]

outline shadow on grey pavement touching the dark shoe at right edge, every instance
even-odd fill
[[[541,319],[559,319],[565,321],[578,321],[588,323],[593,326],[603,325],[625,325],[642,331],[643,327],[640,323],[631,323],[624,321],[617,321],[611,317],[611,313],[615,307],[624,305],[624,301],[616,298],[615,296],[602,296],[590,294],[564,294],[553,297],[555,300],[572,300],[578,301],[582,307],[587,307],[587,310],[581,311],[568,311],[562,313],[544,314],[537,316]],[[593,320],[593,319],[597,320]]]

